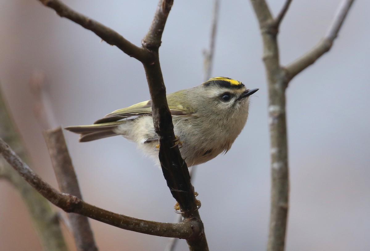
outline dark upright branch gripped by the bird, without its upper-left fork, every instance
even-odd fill
[[[151,96],[154,128],[159,138],[159,161],[167,186],[183,211],[184,222],[193,219],[201,223],[189,170],[180,155],[178,146],[175,145],[174,126],[168,109],[166,88],[159,64],[159,46],[172,4],[172,0],[158,1],[152,24],[142,39],[143,47],[155,55],[155,60],[151,63],[143,62],[143,65]],[[187,240],[187,242],[191,251],[208,250],[203,230],[197,238]]]

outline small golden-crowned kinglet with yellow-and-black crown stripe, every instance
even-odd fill
[[[247,121],[249,96],[256,91],[234,79],[217,77],[167,95],[174,133],[188,166],[211,160],[230,149]],[[123,135],[158,162],[158,136],[151,112],[149,100],[109,113],[94,125],[65,129],[79,133],[80,142]]]

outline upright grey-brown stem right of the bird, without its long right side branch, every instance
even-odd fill
[[[289,207],[289,169],[285,114],[287,80],[279,63],[277,32],[289,7],[286,2],[278,19],[273,19],[264,0],[251,0],[263,41],[263,62],[268,82],[270,131],[271,204],[268,251],[283,251]]]

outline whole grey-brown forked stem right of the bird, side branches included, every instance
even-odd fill
[[[269,92],[269,129],[271,156],[271,209],[268,251],[283,251],[289,208],[289,168],[286,132],[285,90],[295,75],[328,51],[353,0],[344,0],[326,37],[306,55],[283,68],[279,62],[277,33],[290,1],[287,0],[277,18],[273,18],[265,0],[251,0],[263,41],[263,62]]]

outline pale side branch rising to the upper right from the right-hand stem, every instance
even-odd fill
[[[337,37],[353,2],[354,0],[343,0],[324,38],[306,54],[285,67],[286,75],[289,80],[312,65],[319,57],[332,48],[334,39]]]

